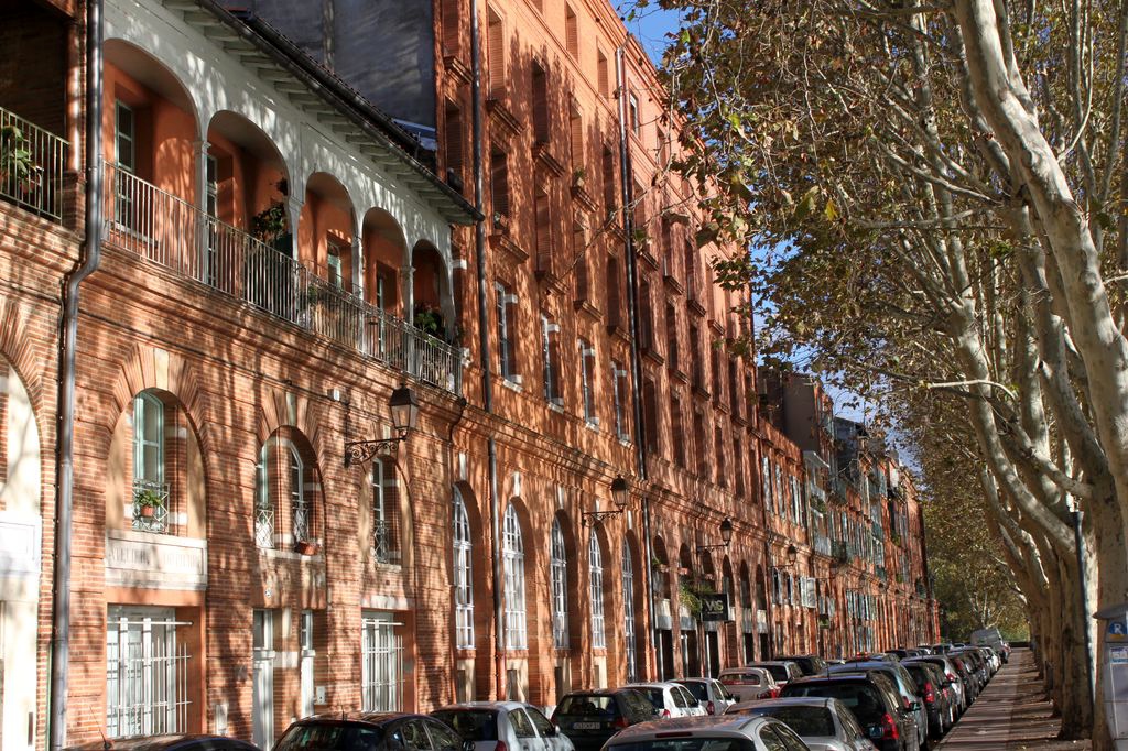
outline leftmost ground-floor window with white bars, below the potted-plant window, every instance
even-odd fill
[[[187,647],[171,608],[109,608],[106,625],[106,735],[183,733]]]

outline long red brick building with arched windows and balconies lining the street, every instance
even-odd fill
[[[830,540],[872,538],[875,513],[901,542],[873,595],[896,626],[867,644],[932,622],[899,586],[926,584],[908,480],[860,459],[906,489],[876,512],[847,489],[836,515],[812,451],[759,418],[741,300],[694,242],[664,96],[609,5],[479,2],[477,60],[468,0],[411,18],[433,152],[426,123],[307,54],[346,77],[353,47],[325,29],[363,19],[291,38],[257,5],[106,0],[87,205],[86,9],[0,2],[0,117],[32,154],[0,177],[0,748],[47,745],[61,654],[68,742],[266,746],[311,712],[547,706],[840,653],[876,573],[847,577]],[[56,587],[60,290],[87,210]],[[397,438],[402,386],[417,426],[360,456]],[[700,617],[707,591],[729,620]]]

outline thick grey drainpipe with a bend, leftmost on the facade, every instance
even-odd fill
[[[59,352],[59,417],[55,450],[55,546],[52,582],[50,749],[67,744],[67,689],[70,673],[71,511],[74,505],[74,355],[79,285],[98,268],[102,255],[102,38],[103,0],[86,6],[86,237],[78,265],[63,280]]]

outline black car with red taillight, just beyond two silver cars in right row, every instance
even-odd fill
[[[876,671],[804,678],[783,688],[782,698],[818,696],[841,701],[880,751],[917,751],[917,727],[911,708],[901,708],[900,695]]]

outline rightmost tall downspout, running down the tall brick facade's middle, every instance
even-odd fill
[[[642,412],[642,359],[638,355],[638,283],[637,271],[635,268],[634,215],[629,211],[629,206],[634,201],[634,180],[632,179],[631,149],[627,148],[625,44],[624,42],[615,51],[615,77],[618,79],[616,81],[616,91],[619,99],[619,178],[622,183],[619,197],[623,201],[623,235],[626,237],[624,255],[626,256],[625,265],[627,272],[627,325],[631,329],[631,400],[634,408],[635,424],[635,469],[638,474],[638,480],[645,481],[646,435]],[[654,613],[658,612],[654,600],[654,586],[651,581],[653,568],[651,562],[654,559],[654,550],[650,527],[650,496],[645,493],[642,504],[643,534],[646,537],[643,545],[646,551],[646,581],[651,584],[646,587],[649,590],[646,603],[650,608],[650,645],[654,651],[654,670],[656,672],[654,679],[656,680],[662,674],[662,652],[659,648],[658,626],[654,620]]]

